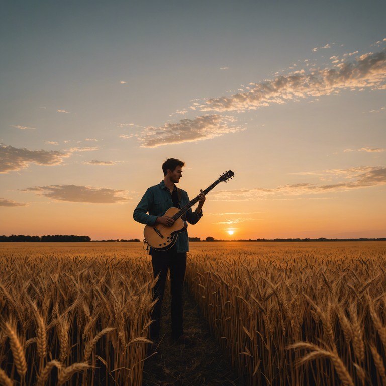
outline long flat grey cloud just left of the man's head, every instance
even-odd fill
[[[91,204],[116,204],[129,201],[124,190],[114,190],[92,186],[50,185],[24,189],[38,196],[48,197],[55,201]]]

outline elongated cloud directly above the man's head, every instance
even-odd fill
[[[235,118],[217,114],[182,119],[177,123],[165,123],[160,127],[146,127],[139,135],[141,147],[158,147],[183,142],[211,139],[241,130],[233,126]]]

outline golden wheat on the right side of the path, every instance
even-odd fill
[[[191,292],[245,385],[386,384],[386,245],[207,247]]]

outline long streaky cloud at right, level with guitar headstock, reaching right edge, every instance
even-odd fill
[[[272,189],[238,189],[232,191],[217,190],[214,199],[225,201],[264,200],[285,196],[326,194],[362,189],[386,184],[386,167],[357,167],[350,169],[332,169],[317,172],[296,173],[299,175],[332,175],[343,180],[330,184],[297,183],[278,186]]]

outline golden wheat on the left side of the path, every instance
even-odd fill
[[[153,279],[139,249],[20,244],[0,246],[0,383],[141,384]]]

